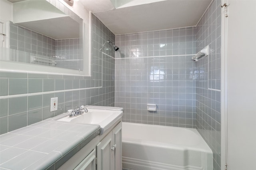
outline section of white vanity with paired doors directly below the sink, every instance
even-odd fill
[[[97,170],[122,170],[122,122],[96,146]]]

